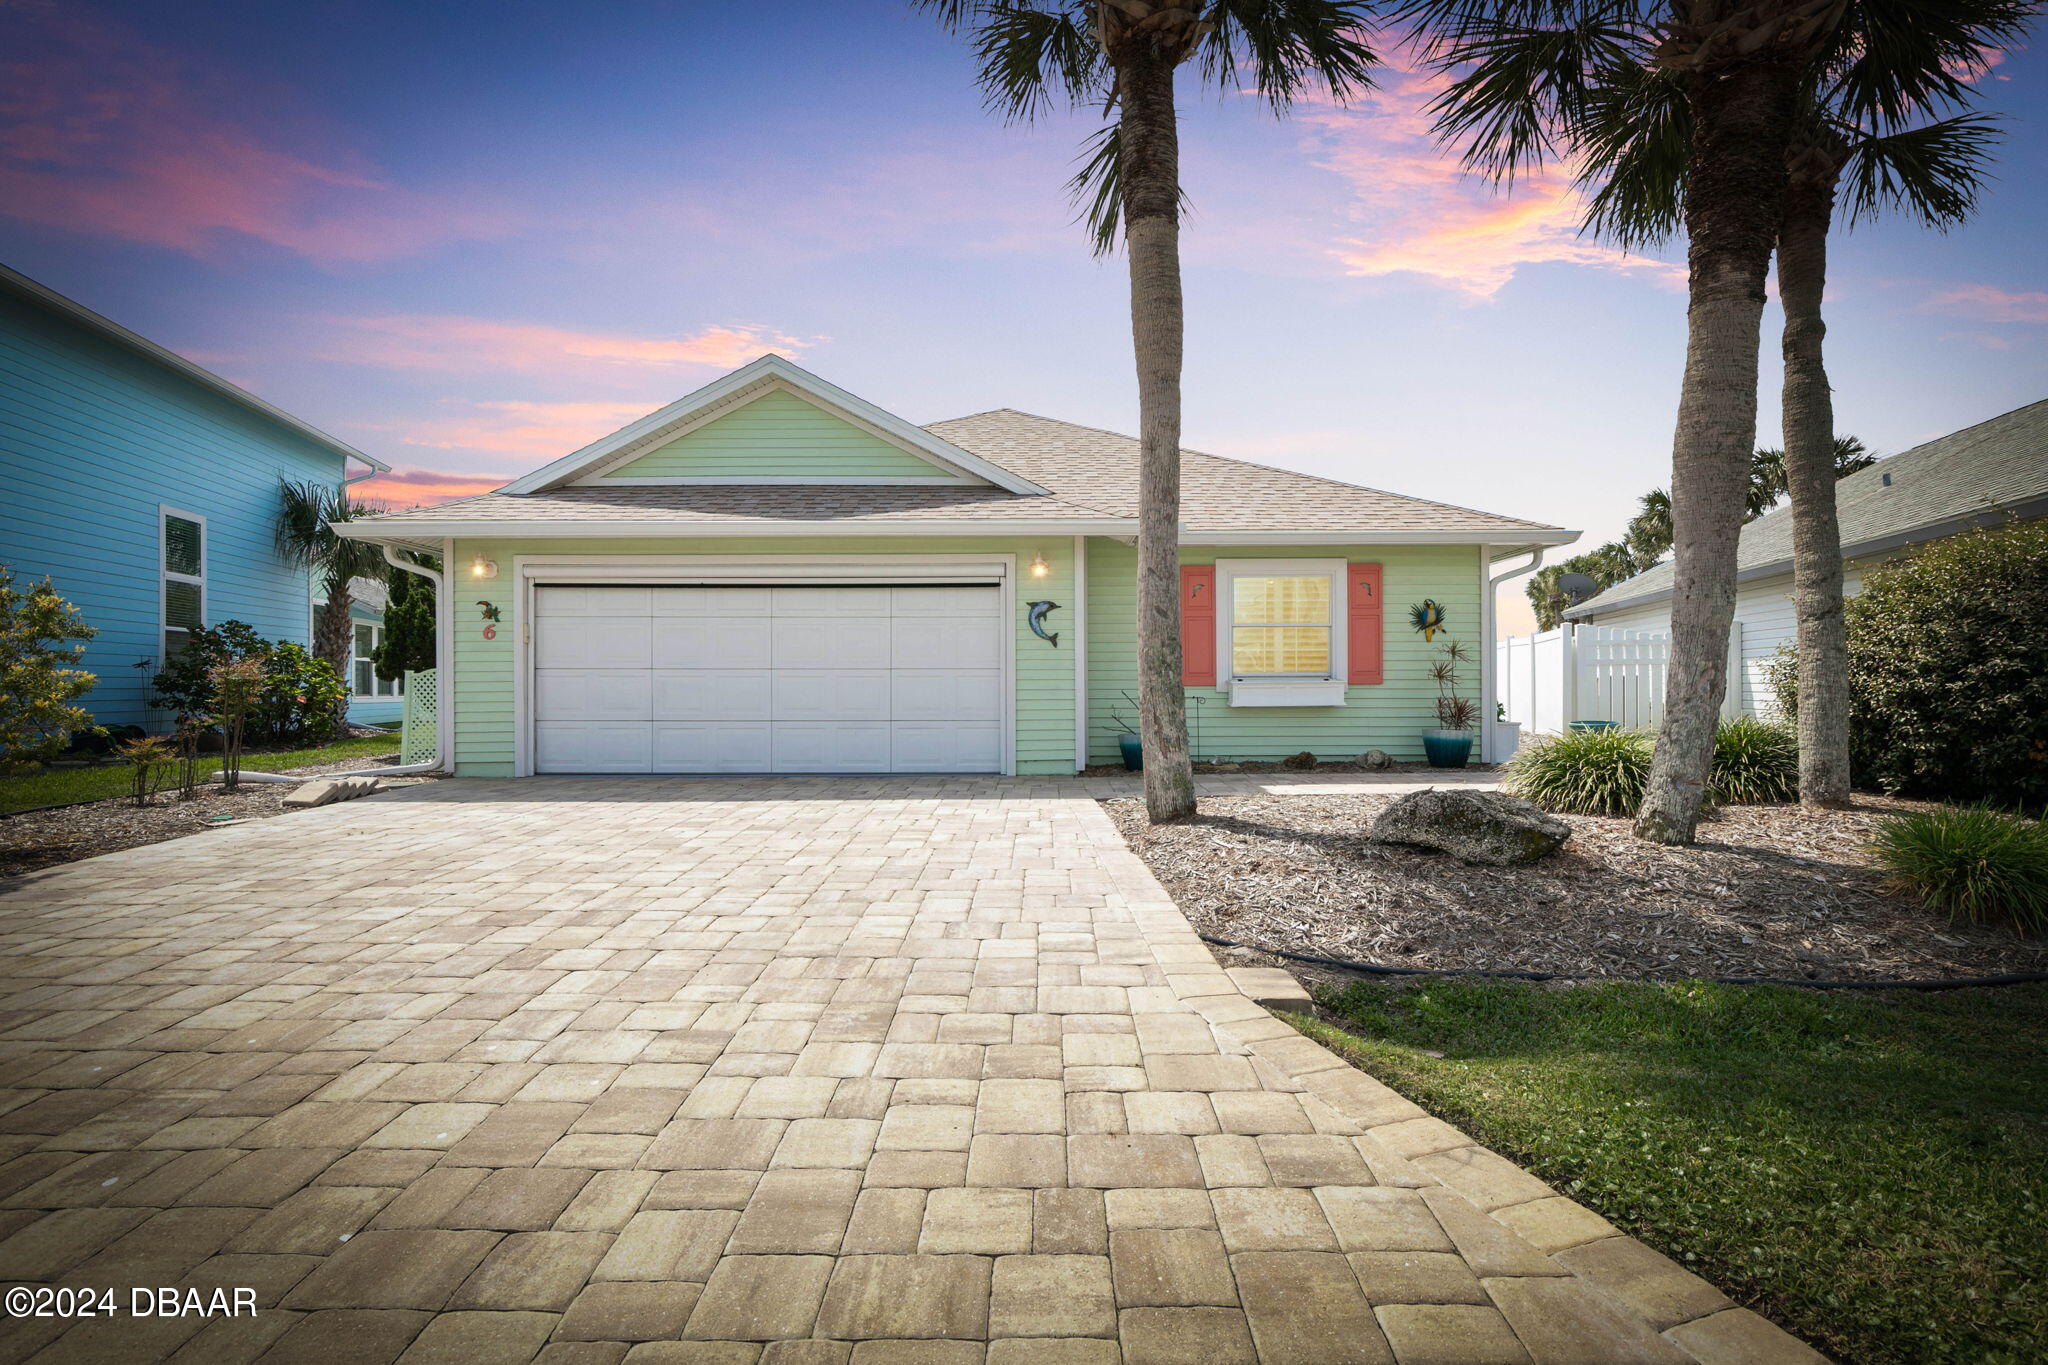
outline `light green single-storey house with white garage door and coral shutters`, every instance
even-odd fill
[[[1497,565],[1577,532],[1194,450],[1182,477],[1198,759],[1421,757],[1448,639],[1491,731]],[[1071,774],[1137,720],[1137,512],[1128,436],[920,428],[764,356],[496,493],[338,530],[453,575],[459,776]]]

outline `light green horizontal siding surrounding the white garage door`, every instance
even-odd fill
[[[1073,540],[926,536],[915,551],[877,538],[844,540],[461,540],[451,563],[467,565],[483,555],[498,563],[489,583],[463,583],[455,593],[455,761],[461,776],[504,776],[512,772],[516,718],[512,708],[514,641],[518,639],[518,593],[512,561],[518,555],[1016,555],[1024,575],[1032,555],[1044,555],[1051,573],[1020,577],[1016,585],[1016,759],[1018,772],[1073,772],[1073,643],[1061,634],[1053,649],[1030,632],[1026,602],[1053,600],[1065,610],[1053,614],[1051,630],[1073,618]],[[498,639],[483,639],[479,600],[500,610]]]

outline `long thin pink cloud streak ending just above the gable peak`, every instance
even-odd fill
[[[393,313],[328,317],[340,336],[326,360],[424,370],[539,370],[557,379],[709,366],[729,370],[768,350],[809,342],[752,323],[700,327],[688,336],[575,332],[549,323]]]

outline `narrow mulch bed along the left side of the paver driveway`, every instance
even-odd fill
[[[317,778],[324,772],[389,767],[393,763],[397,763],[397,753],[385,753],[342,763],[293,767],[291,776]],[[428,780],[387,778],[393,784]],[[119,796],[0,817],[0,878],[197,835],[205,829],[219,829],[225,821],[260,821],[285,814],[285,796],[295,790],[285,782],[244,782],[240,792],[229,794],[219,784],[209,784],[201,786],[193,800],[178,800],[176,792],[160,792],[147,806]]]

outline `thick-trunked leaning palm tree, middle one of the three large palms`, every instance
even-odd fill
[[[1673,604],[1663,724],[1636,835],[1690,843],[1706,796],[1735,548],[1757,430],[1757,358],[1786,149],[1810,72],[1843,49],[1851,8],[1911,0],[1407,0],[1438,70],[1438,129],[1499,180],[1583,153],[1602,90],[1663,88],[1645,119],[1681,127],[1688,241],[1686,377],[1671,442]],[[1905,23],[1901,18],[1901,23]],[[1667,168],[1669,170],[1669,168]],[[1794,483],[1802,477],[1794,475]]]

